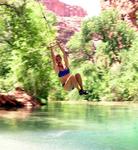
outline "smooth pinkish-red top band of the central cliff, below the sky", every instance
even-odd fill
[[[71,6],[60,2],[59,0],[44,0],[44,4],[46,5],[48,10],[51,10],[58,16],[63,17],[71,17],[71,16],[78,16],[78,17],[85,17],[87,12],[79,7],[79,6]]]

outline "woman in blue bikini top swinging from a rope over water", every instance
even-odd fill
[[[75,75],[70,74],[68,55],[65,52],[65,49],[60,45],[59,42],[57,42],[56,44],[58,45],[58,47],[63,53],[64,64],[62,62],[62,57],[59,54],[55,55],[53,49],[54,46],[51,46],[50,50],[51,50],[54,70],[58,74],[58,77],[61,81],[63,88],[66,91],[70,91],[73,90],[74,88],[77,88],[80,95],[88,94],[87,91],[83,89],[81,75],[79,73]]]

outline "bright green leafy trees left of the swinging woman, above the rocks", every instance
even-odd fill
[[[34,0],[2,3],[0,12],[1,91],[18,85],[34,96],[46,99],[51,71],[47,45],[55,38],[55,29],[49,30],[41,8]],[[55,16],[46,15],[53,26]]]

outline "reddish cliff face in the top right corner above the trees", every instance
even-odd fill
[[[102,0],[102,10],[115,8],[119,11],[122,20],[138,30],[138,0]]]

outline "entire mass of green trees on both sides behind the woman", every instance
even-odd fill
[[[137,100],[138,35],[115,10],[84,21],[67,44],[72,73],[80,72],[90,91],[86,97],[66,93],[53,72],[47,46],[56,35],[54,15],[46,12],[51,32],[37,1],[10,0],[0,13],[1,91],[19,85],[40,99]]]

